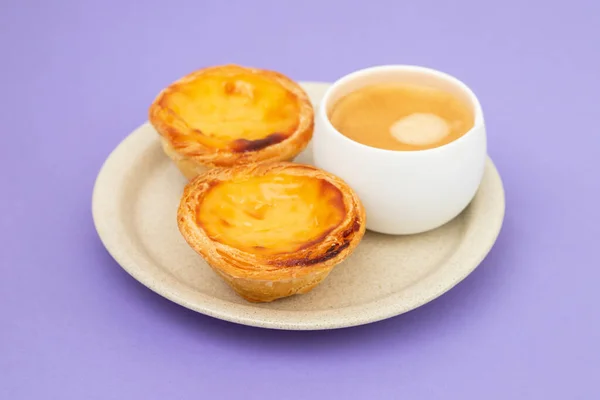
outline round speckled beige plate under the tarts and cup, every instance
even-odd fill
[[[318,103],[327,84],[304,83]],[[310,163],[310,146],[297,161]],[[504,218],[504,190],[491,160],[469,207],[419,235],[367,232],[346,261],[312,292],[268,304],[238,297],[179,234],[185,180],[144,124],[108,157],[96,180],[93,217],[115,260],[154,292],[227,321],[276,329],[341,328],[389,318],[440,296],[487,255]]]

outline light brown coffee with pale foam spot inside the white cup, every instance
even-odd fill
[[[328,117],[337,131],[358,143],[401,151],[443,146],[471,130],[475,120],[470,104],[449,91],[400,83],[351,92]]]

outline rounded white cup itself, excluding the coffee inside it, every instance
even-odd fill
[[[440,147],[395,151],[360,144],[333,127],[329,110],[342,96],[386,82],[451,91],[472,107],[473,128]],[[410,65],[367,68],[336,81],[317,110],[312,146],[315,165],[345,180],[362,200],[367,229],[396,235],[425,232],[460,214],[479,188],[487,157],[483,113],[471,89],[446,73]]]

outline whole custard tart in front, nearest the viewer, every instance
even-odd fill
[[[365,233],[363,205],[344,181],[290,162],[197,176],[177,219],[192,249],[250,302],[307,293]]]

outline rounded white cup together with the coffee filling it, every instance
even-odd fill
[[[359,70],[325,93],[313,157],[356,191],[367,229],[425,232],[454,219],[479,188],[483,113],[471,89],[446,73],[409,65]]]

